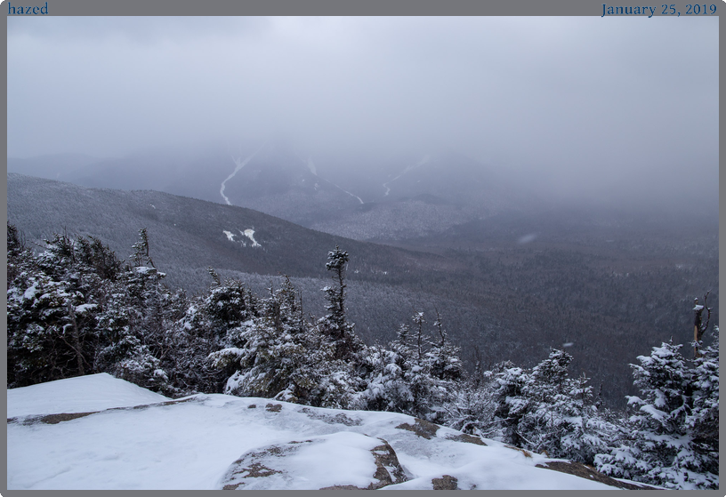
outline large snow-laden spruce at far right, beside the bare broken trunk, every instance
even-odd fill
[[[696,372],[686,364],[681,347],[673,340],[664,342],[649,356],[637,357],[640,365],[631,365],[633,383],[641,390],[640,397],[628,397],[633,432],[596,458],[603,473],[668,488],[718,488],[718,445],[714,453],[714,445],[701,443],[694,433]],[[713,372],[713,366],[707,369]],[[708,388],[701,391],[709,395]]]

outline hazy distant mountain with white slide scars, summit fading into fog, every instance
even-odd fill
[[[439,233],[531,199],[465,156],[311,156],[286,140],[157,150],[117,159],[8,159],[8,172],[92,188],[153,189],[265,212],[359,240]]]

